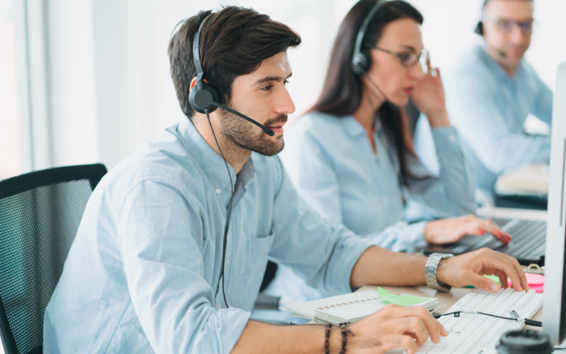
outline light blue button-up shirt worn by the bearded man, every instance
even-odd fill
[[[230,173],[229,308],[218,285],[228,171],[185,118],[94,190],[45,312],[45,353],[230,353],[268,258],[351,291],[369,242],[308,207],[277,156],[254,153]]]

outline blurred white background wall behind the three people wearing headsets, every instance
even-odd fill
[[[444,67],[474,40],[482,0],[412,0],[424,14],[424,44]],[[228,1],[226,1],[228,3]],[[225,4],[226,4],[225,3]],[[328,54],[354,0],[234,0],[287,23],[303,38],[289,52],[289,91],[297,113],[322,86]],[[171,31],[208,0],[52,0],[48,6],[50,99],[54,165],[102,161],[111,168],[183,118],[169,76]],[[566,1],[536,1],[538,26],[526,57],[553,88],[566,60]]]

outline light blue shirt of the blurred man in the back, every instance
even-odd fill
[[[550,125],[553,93],[526,59],[509,76],[476,44],[442,75],[446,109],[458,129],[478,187],[493,195],[495,181],[506,169],[550,160],[550,137],[526,135],[532,114]],[[419,119],[415,146],[429,169],[437,169],[427,120]],[[427,148],[428,147],[428,148]]]

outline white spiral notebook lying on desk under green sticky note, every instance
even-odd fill
[[[435,309],[439,304],[436,297],[391,294],[379,287],[378,291],[364,290],[308,302],[287,304],[285,309],[308,319],[337,325],[343,322],[359,321],[391,303],[401,306],[424,306],[429,310]]]

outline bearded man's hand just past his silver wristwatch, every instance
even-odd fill
[[[515,258],[490,249],[479,249],[460,256],[441,261],[437,270],[437,280],[453,287],[473,285],[483,290],[497,292],[499,285],[483,275],[497,275],[507,287],[507,277],[511,278],[515,290],[529,290],[521,265]]]

